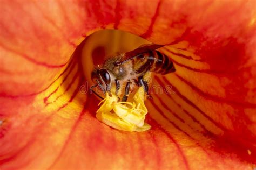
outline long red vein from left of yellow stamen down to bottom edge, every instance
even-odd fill
[[[69,133],[68,137],[66,138],[66,140],[65,140],[65,142],[63,144],[63,147],[61,148],[57,158],[52,162],[52,164],[48,167],[48,169],[52,169],[53,165],[55,165],[57,163],[57,161],[60,159],[60,157],[64,153],[64,150],[65,150],[66,146],[68,146],[69,141],[71,140],[73,134],[75,133],[75,130],[76,130],[80,120],[85,115],[85,111],[86,111],[86,108],[89,106],[89,103],[90,103],[90,97],[87,97],[87,100],[86,100],[86,102],[84,104],[83,110],[80,112],[79,117],[77,118],[76,122],[73,124],[73,126],[72,126],[72,128],[70,130],[70,133]]]

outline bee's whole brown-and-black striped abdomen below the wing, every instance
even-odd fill
[[[134,59],[133,69],[136,70],[137,73],[150,71],[168,74],[176,71],[169,57],[159,51],[150,51],[139,55],[137,59]]]

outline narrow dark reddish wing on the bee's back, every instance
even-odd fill
[[[121,58],[121,60],[119,62],[116,62],[115,65],[116,66],[122,65],[126,61],[136,58],[140,54],[153,51],[163,46],[164,45],[158,45],[158,44],[147,44],[147,45],[140,46],[139,48],[136,48],[133,51],[125,53],[124,56]]]

